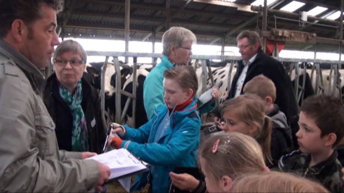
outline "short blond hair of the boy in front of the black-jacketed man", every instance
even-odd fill
[[[244,93],[257,94],[263,100],[265,100],[267,96],[270,96],[272,102],[276,100],[275,84],[264,75],[258,75],[248,81],[244,86]]]

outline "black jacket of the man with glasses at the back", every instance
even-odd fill
[[[243,61],[239,61],[237,68],[238,70],[234,75],[227,99],[232,99],[234,97],[236,84],[240,73],[243,71],[243,68]],[[290,77],[287,75],[284,67],[278,60],[266,55],[261,48],[259,48],[256,59],[249,65],[247,69],[243,88],[248,81],[261,74],[271,79],[275,84],[275,104],[280,107],[280,110],[287,116],[287,120],[290,123],[299,112]],[[243,89],[241,89],[241,94],[243,94]]]

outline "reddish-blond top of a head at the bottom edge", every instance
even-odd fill
[[[321,184],[290,173],[264,172],[235,179],[230,192],[329,192]]]

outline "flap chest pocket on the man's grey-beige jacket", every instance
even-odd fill
[[[36,114],[36,143],[39,156],[44,158],[57,154],[57,143],[55,136],[55,123],[49,114]]]

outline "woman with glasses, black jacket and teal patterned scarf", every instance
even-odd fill
[[[47,78],[44,103],[56,124],[60,149],[99,154],[106,135],[98,93],[83,77],[86,57],[84,48],[76,41],[66,40],[57,46],[54,73]]]

